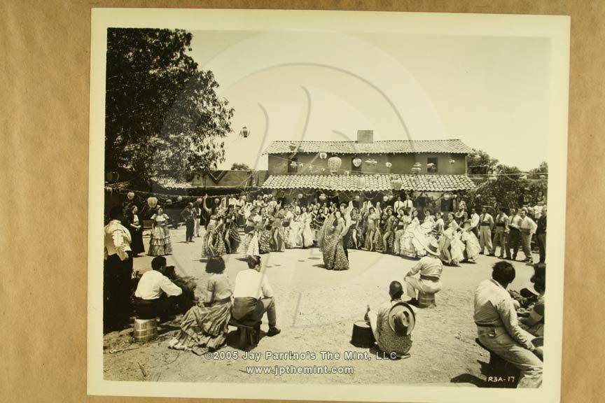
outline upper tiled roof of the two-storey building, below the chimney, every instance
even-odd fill
[[[332,154],[468,154],[473,149],[461,140],[387,140],[373,143],[356,141],[273,141],[263,154],[320,153]]]

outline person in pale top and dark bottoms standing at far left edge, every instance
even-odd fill
[[[130,232],[122,225],[122,220],[123,208],[113,206],[109,211],[109,223],[104,227],[104,331],[122,330],[130,319],[132,250]]]

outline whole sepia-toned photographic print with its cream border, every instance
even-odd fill
[[[569,17],[93,9],[89,393],[555,402],[568,80]]]

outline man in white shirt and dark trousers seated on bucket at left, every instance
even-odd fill
[[[167,278],[163,271],[166,269],[166,258],[156,256],[151,261],[153,270],[146,271],[134,292],[134,309],[139,319],[160,317],[160,322],[171,319],[170,316],[179,306],[179,313],[184,313],[186,302],[182,301],[183,290]],[[190,302],[189,302],[190,304]]]

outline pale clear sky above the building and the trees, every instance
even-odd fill
[[[461,139],[524,170],[546,160],[547,38],[193,31],[191,46],[235,108],[219,169],[266,169],[271,141],[355,140],[358,129]]]

